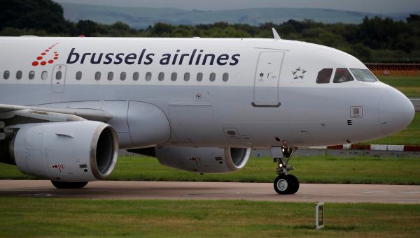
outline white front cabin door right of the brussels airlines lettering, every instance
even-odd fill
[[[255,70],[255,107],[279,107],[279,78],[284,52],[260,52]]]

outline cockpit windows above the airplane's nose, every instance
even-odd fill
[[[316,77],[317,84],[328,84],[330,83],[331,76],[332,76],[332,68],[323,68],[321,71],[318,72],[318,77]],[[367,69],[361,68],[350,68],[351,73],[353,73],[356,80],[363,81],[363,82],[377,82],[377,78],[370,73]],[[342,83],[342,82],[349,82],[353,81],[354,78],[351,75],[348,69],[346,68],[337,68],[335,70],[334,83]]]

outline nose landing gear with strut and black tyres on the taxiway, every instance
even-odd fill
[[[288,165],[293,153],[297,147],[288,147],[284,144],[282,147],[272,147],[272,156],[277,163],[276,173],[279,176],[274,179],[274,190],[279,194],[295,194],[299,190],[299,180],[289,170],[294,170],[293,166]]]

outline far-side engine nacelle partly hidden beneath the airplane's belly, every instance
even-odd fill
[[[158,147],[162,165],[200,173],[234,172],[244,168],[251,148]]]

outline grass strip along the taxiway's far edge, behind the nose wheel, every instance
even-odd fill
[[[414,157],[298,157],[291,161],[302,183],[420,184],[420,159]],[[150,157],[120,157],[109,180],[269,182],[276,176],[272,158],[251,157],[245,168],[229,174],[196,174],[160,165]],[[15,166],[0,165],[0,179],[31,179]]]

